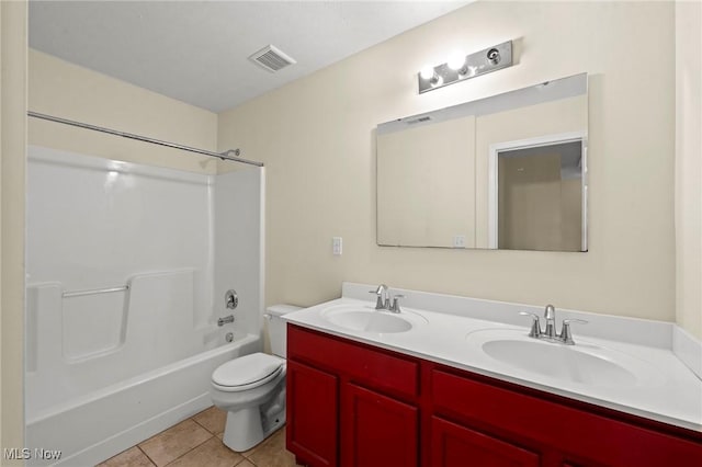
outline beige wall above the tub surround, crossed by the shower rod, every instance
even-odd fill
[[[38,113],[214,150],[217,115],[38,50],[29,55],[29,105]],[[217,159],[30,118],[31,145],[214,173]]]

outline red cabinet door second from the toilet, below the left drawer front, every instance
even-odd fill
[[[370,389],[342,388],[341,465],[412,467],[419,463],[416,407]]]

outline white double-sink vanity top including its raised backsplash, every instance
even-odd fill
[[[702,431],[702,380],[673,353],[671,323],[556,309],[558,329],[564,318],[589,321],[574,326],[575,348],[580,345],[584,352],[604,349],[636,366],[635,371],[641,372],[636,374],[642,375],[623,385],[582,384],[508,365],[475,346],[475,332],[486,329],[531,339],[525,337],[531,318],[519,312],[543,316],[542,307],[390,288],[392,295],[405,296],[400,300],[403,314],[412,323],[407,332],[352,331],[322,316],[321,311],[330,306],[374,308],[375,299],[369,291],[375,287],[343,283],[341,298],[288,314],[284,319],[480,375]]]

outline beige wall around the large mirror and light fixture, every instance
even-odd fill
[[[675,319],[675,18],[667,2],[477,2],[220,114],[267,163],[267,303],[341,281]],[[517,65],[417,94],[422,64],[514,39]],[[655,66],[652,66],[655,64]],[[381,122],[587,71],[590,251],[375,244]],[[383,181],[385,182],[385,181]],[[344,240],[331,254],[331,237]]]

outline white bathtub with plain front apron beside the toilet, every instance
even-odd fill
[[[260,337],[247,334],[43,413],[27,413],[30,451],[61,452],[58,460],[33,456],[27,465],[92,466],[112,457],[212,406],[214,368],[260,349]]]

